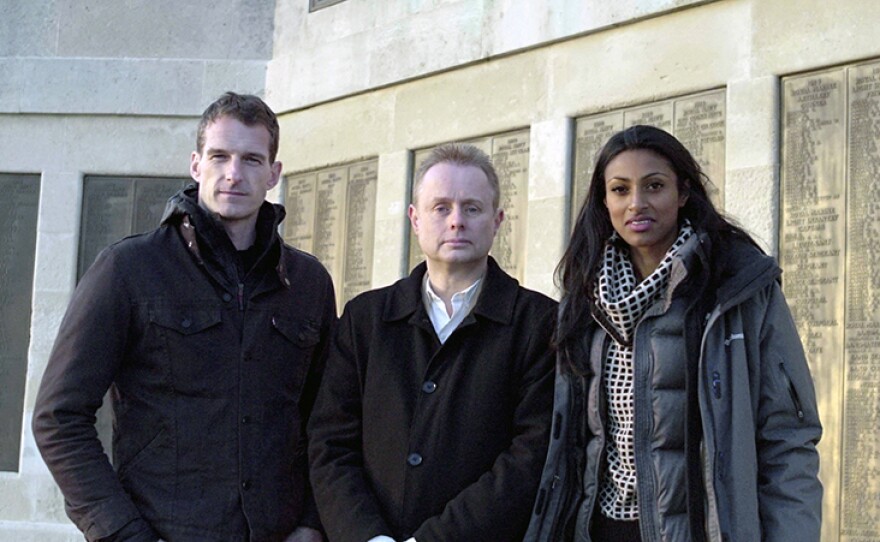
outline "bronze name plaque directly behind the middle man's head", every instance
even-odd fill
[[[498,265],[511,276],[523,280],[525,269],[525,228],[529,190],[529,130],[463,140],[489,155],[501,187],[499,206],[504,209],[504,221],[498,229],[490,254]],[[413,175],[430,154],[431,149],[415,151]],[[413,179],[413,182],[415,179]],[[418,239],[410,231],[409,267],[425,259]]]

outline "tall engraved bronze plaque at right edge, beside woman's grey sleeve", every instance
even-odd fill
[[[880,540],[880,62],[782,88],[783,288],[819,402],[823,541]]]

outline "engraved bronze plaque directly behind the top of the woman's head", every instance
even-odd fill
[[[726,99],[724,90],[712,90],[577,119],[571,190],[572,224],[586,198],[602,146],[616,132],[636,124],[656,126],[678,138],[712,181],[708,186],[712,201],[723,207]]]

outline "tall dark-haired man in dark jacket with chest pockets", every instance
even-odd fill
[[[278,121],[256,96],[205,110],[157,230],[105,249],[74,293],[34,412],[89,541],[317,542],[305,425],[333,286],[284,244]],[[113,465],[95,431],[110,390]]]

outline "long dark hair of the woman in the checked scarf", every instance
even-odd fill
[[[717,246],[718,237],[724,234],[755,244],[741,227],[715,208],[706,191],[711,181],[674,136],[645,125],[631,126],[611,136],[596,158],[587,197],[578,213],[568,248],[556,267],[556,284],[562,291],[563,302],[554,342],[575,370],[579,356],[573,355],[572,347],[591,318],[596,273],[605,243],[614,232],[605,207],[605,168],[619,154],[640,149],[666,160],[678,177],[679,193],[688,195],[684,207],[679,209],[679,222],[685,218],[690,220],[695,230],[709,235],[711,246]]]

